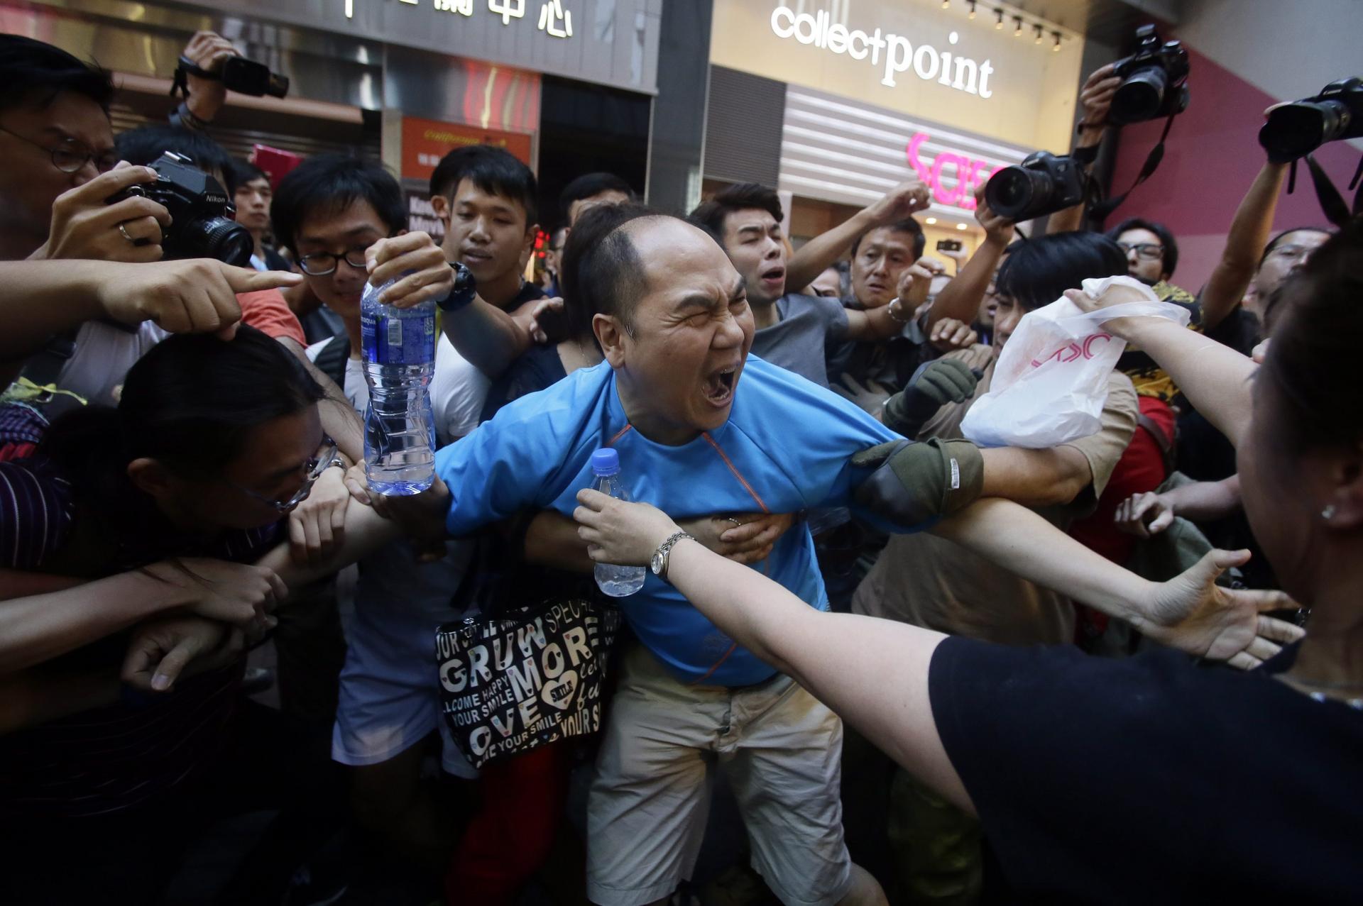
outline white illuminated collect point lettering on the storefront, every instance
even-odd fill
[[[920,44],[915,48],[908,38],[900,34],[882,34],[876,29],[867,34],[861,29],[848,30],[846,26],[833,22],[827,10],[814,14],[796,14],[791,7],[777,7],[771,11],[771,31],[778,38],[793,38],[800,44],[810,44],[830,53],[845,53],[853,60],[870,60],[872,67],[880,65],[885,57],[883,76],[880,84],[893,89],[897,83],[894,76],[901,72],[913,71],[913,75],[924,82],[936,82],[957,91],[977,94],[981,98],[994,97],[990,89],[990,76],[994,75],[994,64],[990,60],[976,63],[969,57],[954,54],[950,50],[938,50],[931,44]],[[953,46],[961,40],[960,33],[947,35],[947,42]]]

